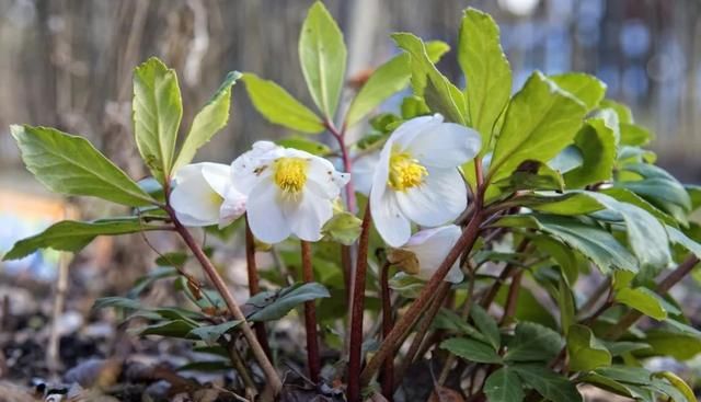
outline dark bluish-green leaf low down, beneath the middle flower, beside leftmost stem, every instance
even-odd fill
[[[331,297],[329,290],[318,283],[296,284],[278,291],[262,291],[246,301],[246,305],[256,309],[249,320],[279,320],[304,301],[325,297]]]

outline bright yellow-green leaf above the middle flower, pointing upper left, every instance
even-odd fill
[[[302,133],[324,130],[322,119],[280,85],[251,72],[244,73],[242,80],[253,106],[271,123]]]

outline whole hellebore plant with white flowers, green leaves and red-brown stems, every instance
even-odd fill
[[[595,77],[536,71],[513,94],[498,27],[485,13],[466,10],[456,42],[466,88],[436,68],[447,44],[392,38],[402,51],[348,90],[340,111],[346,47],[317,2],[299,39],[317,110],[272,81],[232,72],[180,140],[177,78],[149,59],[134,74],[135,139],[152,175],[140,182],[81,137],[12,126],[27,169],[48,188],[131,214],[58,222],[4,260],[41,248],[78,252],[97,236],[176,233],[214,289],[191,273],[188,254],[160,253],[159,269],[129,298],[96,307],[148,311],[142,334],[229,356],[223,369],[251,400],[295,400],[304,389],[310,399],[343,393],[352,402],[446,392],[572,402],[597,387],[641,401],[696,401],[683,379],[647,359],[683,363],[701,351],[701,332],[669,295],[701,255],[691,216],[699,187],[654,164],[642,148],[651,135]],[[231,165],[191,164],[227,124],[238,80],[263,116],[296,134],[257,141]],[[374,113],[397,93],[401,111]],[[347,129],[364,123],[366,135],[350,143]],[[331,146],[313,139],[321,133]],[[245,231],[245,309],[193,227],[222,241]],[[256,252],[275,265],[258,269]],[[154,280],[174,280],[193,311],[141,306]],[[601,285],[583,292],[584,280]],[[302,303],[308,380],[283,383],[284,367],[301,354],[275,351],[268,330]],[[416,372],[434,387],[418,389]]]

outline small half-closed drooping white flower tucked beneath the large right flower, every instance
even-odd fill
[[[388,259],[405,273],[429,280],[450,249],[456,245],[460,234],[460,228],[455,225],[422,230],[412,236],[406,244],[392,250]],[[459,263],[456,262],[445,280],[458,284],[463,277]]]

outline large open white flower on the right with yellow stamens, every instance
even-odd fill
[[[468,204],[458,168],[480,150],[471,128],[422,116],[392,133],[380,153],[370,192],[375,226],[394,248],[411,236],[411,221],[435,227],[455,220]]]

